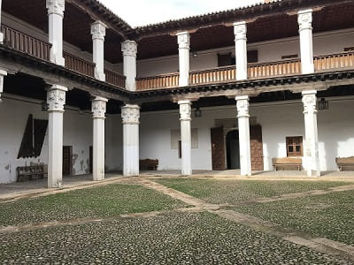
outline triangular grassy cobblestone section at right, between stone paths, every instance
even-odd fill
[[[287,201],[255,203],[235,210],[282,226],[354,246],[354,191]]]

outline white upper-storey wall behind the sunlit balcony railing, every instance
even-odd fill
[[[191,36],[193,39],[193,35]],[[176,40],[177,42],[177,40]],[[346,47],[354,46],[354,29],[314,34],[314,56],[342,52]],[[280,61],[282,56],[298,54],[300,45],[298,38],[279,39],[270,42],[249,43],[248,49],[258,49],[258,63]],[[190,71],[199,71],[218,67],[218,53],[232,52],[235,47],[198,51],[198,57],[190,57]],[[154,76],[169,72],[178,72],[178,50],[175,56],[158,57],[140,60],[137,63],[138,77]]]

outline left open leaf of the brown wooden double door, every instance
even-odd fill
[[[212,170],[225,170],[224,128],[212,128]]]

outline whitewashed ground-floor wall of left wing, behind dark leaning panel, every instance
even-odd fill
[[[26,99],[6,98],[0,103],[0,183],[16,181],[16,168],[32,163],[48,163],[48,135],[46,135],[41,156],[17,159],[19,147],[29,114],[36,119],[48,119],[42,111],[41,102]],[[116,117],[107,117],[105,126],[107,171],[121,169],[121,123]],[[73,146],[73,175],[89,173],[89,147],[92,146],[92,114],[82,113],[66,107],[64,113],[65,146]]]

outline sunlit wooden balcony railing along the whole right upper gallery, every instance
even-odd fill
[[[330,72],[354,67],[354,52],[345,52],[313,58],[315,72]],[[249,79],[264,79],[301,74],[300,59],[278,62],[249,64]],[[136,80],[137,90],[178,87],[179,74],[170,73]],[[219,67],[204,71],[189,72],[189,84],[207,85],[232,82],[236,80],[235,65]]]

